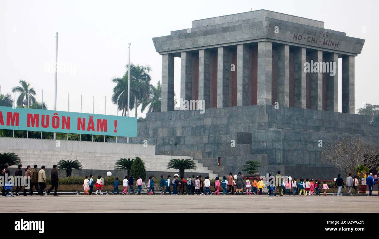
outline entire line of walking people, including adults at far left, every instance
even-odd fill
[[[44,192],[46,189],[46,173],[45,166],[42,165],[41,169],[38,171],[38,165],[34,165],[33,169],[28,165],[25,168],[25,177],[30,178],[30,188],[23,190],[23,196],[33,195],[33,187],[38,195],[44,196],[45,194],[50,194],[54,190],[54,196],[57,195],[58,189],[58,171],[56,170],[57,166],[53,165],[53,169],[51,170],[51,187]],[[5,168],[2,172],[3,175],[9,173],[9,166],[5,164]],[[18,165],[17,170],[15,171],[15,176],[22,176],[22,165]],[[271,174],[268,174],[268,178],[266,178],[265,182],[262,178],[259,179],[249,179],[244,180],[243,174],[238,172],[237,175],[233,176],[230,173],[227,177],[224,176],[220,181],[219,177],[215,178],[215,182],[212,183],[209,176],[203,177],[201,175],[196,176],[192,175],[191,177],[184,178],[183,175],[175,174],[171,179],[171,175],[168,175],[164,178],[163,175],[160,176],[160,188],[161,195],[211,195],[212,193],[215,195],[220,194],[220,190],[222,188],[222,195],[263,195],[263,191],[267,192],[269,196],[290,196],[290,195],[304,195],[304,196],[312,196],[312,195],[320,195],[320,189],[323,189],[323,195],[327,195],[327,191],[329,190],[329,186],[326,181],[320,182],[319,180],[313,180],[311,178],[300,178],[300,180],[296,180],[296,178],[283,177],[280,175],[280,171],[277,172],[275,177],[271,177]],[[271,180],[273,178],[273,180]],[[265,178],[263,178],[265,179]],[[120,194],[119,192],[119,178],[116,177],[116,180],[113,183],[113,191],[111,194]],[[155,177],[150,176],[149,181],[147,181],[148,195],[157,195],[155,193]],[[130,177],[125,176],[122,181],[122,185],[124,186],[124,190],[121,192],[123,195],[135,195],[141,194],[143,187],[143,178],[139,176],[136,180],[136,186],[138,187],[137,192],[134,189],[134,178],[133,175]],[[203,186],[204,185],[204,186]],[[335,178],[334,187],[338,187],[337,196],[342,196],[342,187],[348,187],[348,196],[357,196],[359,180],[357,175],[352,177],[351,174],[346,178],[346,184],[344,183],[341,175],[338,174],[338,177]],[[373,174],[370,173],[367,177],[367,186],[369,189],[369,196],[372,196],[373,186],[375,185],[375,180]],[[99,175],[94,178],[94,175],[90,174],[85,177],[83,183],[83,191],[86,195],[102,195],[101,191],[104,186],[104,178]],[[214,192],[211,192],[210,187],[213,186],[215,188]],[[93,194],[94,187],[96,192]],[[171,191],[172,187],[172,191]],[[267,189],[266,189],[267,188]],[[19,192],[21,191],[22,186],[16,186],[16,191],[14,195],[19,196]],[[266,190],[265,190],[266,189]],[[354,195],[353,190],[354,189]],[[292,191],[292,192],[291,192]],[[28,192],[28,194],[27,194]],[[3,187],[2,195],[5,196],[5,188]]]

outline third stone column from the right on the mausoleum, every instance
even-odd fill
[[[323,51],[312,51],[310,59],[313,62],[323,62]],[[310,64],[315,70],[315,67]],[[320,67],[320,66],[319,66]],[[322,67],[322,65],[321,65]],[[314,110],[323,110],[323,73],[318,68],[318,72],[310,74],[310,108]]]

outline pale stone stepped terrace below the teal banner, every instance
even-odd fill
[[[167,164],[173,158],[191,158],[191,156],[156,155],[155,146],[142,144],[100,143],[83,141],[60,141],[56,147],[55,140],[0,138],[0,152],[14,152],[22,160],[23,165],[45,165],[52,168],[59,160],[78,160],[83,169],[113,170],[114,164],[120,158],[140,157],[145,163],[146,171],[172,172],[176,169],[167,169]],[[218,175],[209,170],[199,160],[194,160],[196,170],[185,172],[194,174],[208,173],[210,178]],[[15,167],[15,166],[12,166]]]

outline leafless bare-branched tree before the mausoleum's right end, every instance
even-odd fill
[[[367,143],[363,138],[339,138],[327,143],[320,156],[322,163],[333,165],[348,175],[363,164],[368,170],[373,169],[378,165],[378,155],[379,147]]]

